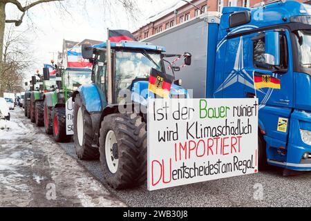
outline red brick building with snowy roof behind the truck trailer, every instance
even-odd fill
[[[267,0],[193,0],[191,3],[178,1],[178,3],[167,8],[158,15],[154,15],[148,19],[148,23],[139,30],[133,32],[133,35],[138,40],[146,39],[152,35],[156,35],[163,30],[178,25],[179,23],[194,19],[202,12],[221,12],[225,6],[243,6],[252,7]],[[268,0],[270,1],[270,0]],[[311,0],[296,0],[300,2],[310,3]],[[202,10],[198,10],[200,8]]]

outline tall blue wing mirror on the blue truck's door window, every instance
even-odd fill
[[[279,66],[281,60],[280,33],[274,30],[265,32],[265,63]]]

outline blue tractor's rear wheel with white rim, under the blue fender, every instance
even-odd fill
[[[73,106],[73,140],[75,152],[80,160],[98,160],[100,152],[92,146],[93,128],[92,119],[79,95],[75,97]]]

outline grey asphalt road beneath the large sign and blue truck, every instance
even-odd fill
[[[44,133],[44,128],[41,132]],[[73,143],[60,146],[128,206],[311,206],[311,173],[284,177],[283,170],[270,167],[254,175],[159,191],[150,192],[147,186],[115,191],[106,184],[100,162],[78,160]]]

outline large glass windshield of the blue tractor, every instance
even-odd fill
[[[115,57],[115,89],[130,89],[133,79],[148,78],[151,68],[162,71],[162,61],[159,53],[117,51]]]

